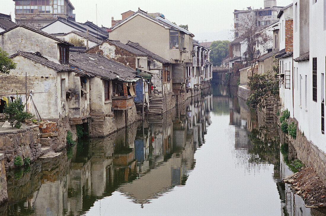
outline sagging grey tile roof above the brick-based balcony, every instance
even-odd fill
[[[69,55],[69,65],[109,80],[133,81],[136,79],[134,69],[98,54],[72,52]]]

